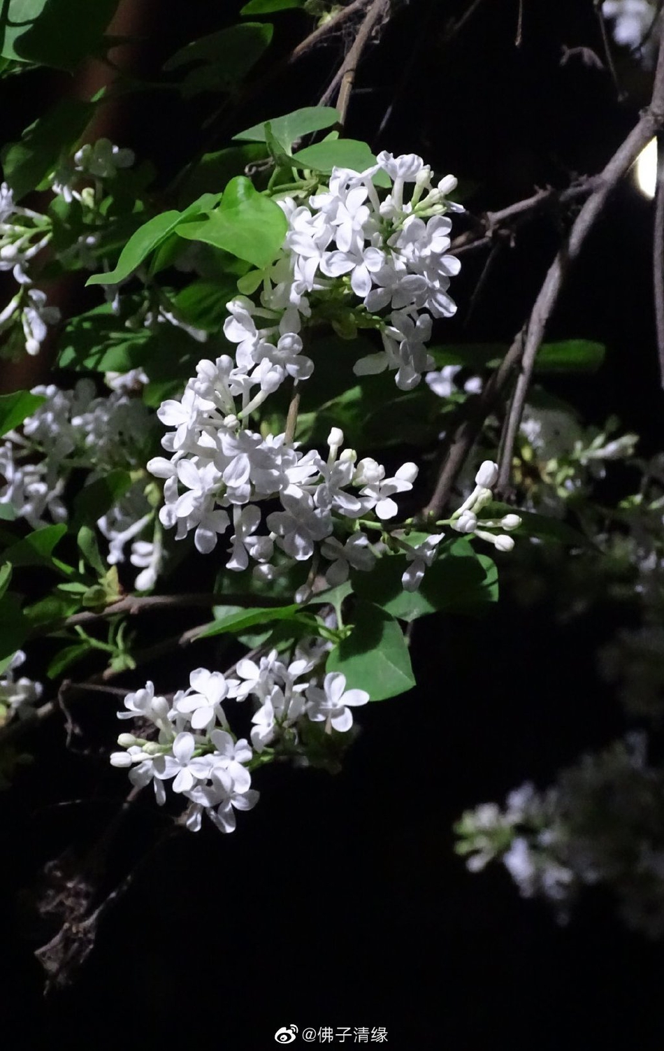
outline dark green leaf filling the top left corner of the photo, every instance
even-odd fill
[[[118,0],[3,0],[0,55],[75,69],[92,54]]]

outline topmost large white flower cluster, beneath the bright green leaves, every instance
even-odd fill
[[[373,183],[378,171],[392,181],[382,202]],[[329,187],[307,204],[277,201],[288,233],[279,259],[257,275],[261,306],[228,305],[225,332],[240,344],[238,367],[251,370],[254,383],[265,376],[271,389],[286,374],[307,378],[313,363],[300,355],[298,333],[324,304],[340,334],[354,334],[357,324],[380,331],[382,351],[360,358],[357,375],[390,369],[401,390],[415,387],[434,365],[426,350],[432,317],[456,310],[448,289],[460,264],[448,254],[452,224],[443,215],[463,210],[445,200],[455,186],[447,176],[432,187],[431,168],[414,153],[383,151],[366,171],[334,168]],[[269,324],[258,330],[254,318]]]

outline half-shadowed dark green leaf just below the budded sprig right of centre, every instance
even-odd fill
[[[401,576],[406,555],[383,556],[371,573],[353,572],[358,597],[369,599],[399,620],[430,613],[478,613],[498,599],[498,571],[486,555],[478,555],[465,538],[454,540],[424,571],[416,592],[406,592]]]

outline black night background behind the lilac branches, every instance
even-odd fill
[[[168,55],[232,21],[237,6],[191,0],[166,11],[154,0],[134,8],[143,39],[127,61],[155,77]],[[466,204],[477,212],[598,171],[647,101],[647,82],[623,73],[631,94],[619,102],[606,71],[578,58],[561,65],[563,45],[601,48],[592,0],[526,0],[519,48],[516,0],[486,0],[447,42],[448,18],[465,6],[412,0],[403,7],[362,63],[347,133],[455,172],[475,186]],[[310,24],[299,13],[274,21],[274,55]],[[105,133],[149,157],[166,185],[203,144],[220,148],[229,131],[315,104],[340,46],[335,39],[265,96],[235,105],[216,138],[203,128],[216,104],[209,97],[184,104],[132,96]],[[71,89],[42,71],[6,82],[6,138],[41,111],[45,95]],[[588,421],[617,413],[643,435],[644,454],[662,445],[651,210],[630,183],[619,187],[549,327],[553,338],[606,343],[599,374],[554,389]],[[457,317],[439,323],[436,342],[511,341],[558,243],[555,215],[526,226],[501,252],[464,325],[486,257],[466,256],[454,286]],[[524,611],[503,590],[481,620],[428,619],[413,642],[420,685],[358,712],[361,734],[344,772],[261,771],[261,802],[238,816],[230,837],[204,828],[160,844],[168,819],[141,798],[101,877],[109,890],[143,858],[134,882],[102,922],[77,983],[46,1000],[32,955],[53,932],[35,914],[40,869],[64,850],[76,867],[116,812],[122,775],[104,756],[117,733],[112,701],[81,713],[81,754],[63,753],[60,725],[40,731],[30,740],[35,769],[0,800],[7,1032],[20,1022],[26,1047],[152,1048],[185,1035],[186,1046],[251,1051],[275,1046],[274,1031],[291,1023],[368,1025],[386,1026],[398,1051],[659,1051],[662,949],[625,931],[608,895],[584,898],[561,928],[545,905],[520,900],[502,869],[473,877],[453,853],[451,825],[462,809],[502,800],[524,780],[544,786],[581,750],[624,728],[596,674],[610,614],[595,611],[565,626],[553,609],[547,598]],[[159,631],[187,624],[160,620]],[[187,653],[146,667],[145,677],[175,688],[192,661],[206,659]]]

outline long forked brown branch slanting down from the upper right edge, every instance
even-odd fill
[[[617,186],[637,157],[653,135],[664,124],[664,38],[660,44],[655,85],[650,105],[642,112],[639,123],[629,132],[618,148],[604,170],[601,172],[599,185],[579,212],[566,244],[558,252],[548,269],[544,283],[537,296],[531,316],[523,328],[517,333],[507,354],[499,368],[486,383],[484,390],[475,400],[471,414],[455,433],[449,455],[447,456],[433,493],[423,514],[438,517],[444,507],[458,472],[462,468],[472,445],[477,438],[486,416],[493,410],[500,395],[506,389],[513,369],[520,365],[514,396],[510,407],[506,430],[503,441],[503,456],[500,465],[498,486],[506,486],[514,441],[521,421],[521,413],[525,395],[533,374],[535,358],[539,350],[546,323],[551,316],[569,264],[573,263],[585,242],[587,234],[601,214],[611,190]]]

